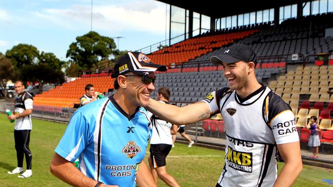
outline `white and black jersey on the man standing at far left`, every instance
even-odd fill
[[[14,102],[14,112],[15,114],[23,113],[26,109],[32,109],[33,98],[28,92],[20,93]],[[18,118],[15,121],[15,130],[31,130],[31,115],[24,116],[22,118]]]

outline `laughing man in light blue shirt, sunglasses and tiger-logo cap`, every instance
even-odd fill
[[[152,125],[147,111],[155,71],[166,67],[128,52],[114,67],[113,96],[79,108],[52,159],[50,171],[75,186],[156,186],[142,161]],[[143,106],[143,107],[142,107]],[[79,170],[72,162],[79,158]]]

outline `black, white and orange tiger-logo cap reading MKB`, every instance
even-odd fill
[[[165,65],[154,64],[147,56],[140,52],[127,52],[114,65],[112,78],[133,72],[137,75],[150,75],[155,71],[165,72]]]

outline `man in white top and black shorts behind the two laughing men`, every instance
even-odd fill
[[[161,103],[169,104],[170,91],[166,87],[161,87],[157,91],[158,100]],[[149,165],[155,183],[158,177],[169,186],[179,186],[177,181],[168,173],[166,173],[166,161],[172,148],[172,134],[177,133],[177,126],[169,122],[163,121],[158,116],[149,112],[153,123],[153,133],[150,140],[150,157]]]

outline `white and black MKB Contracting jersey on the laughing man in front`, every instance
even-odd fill
[[[225,125],[225,165],[218,184],[273,186],[277,178],[276,145],[299,141],[288,104],[267,86],[244,99],[235,90],[222,88],[203,101],[212,115],[221,113]]]

